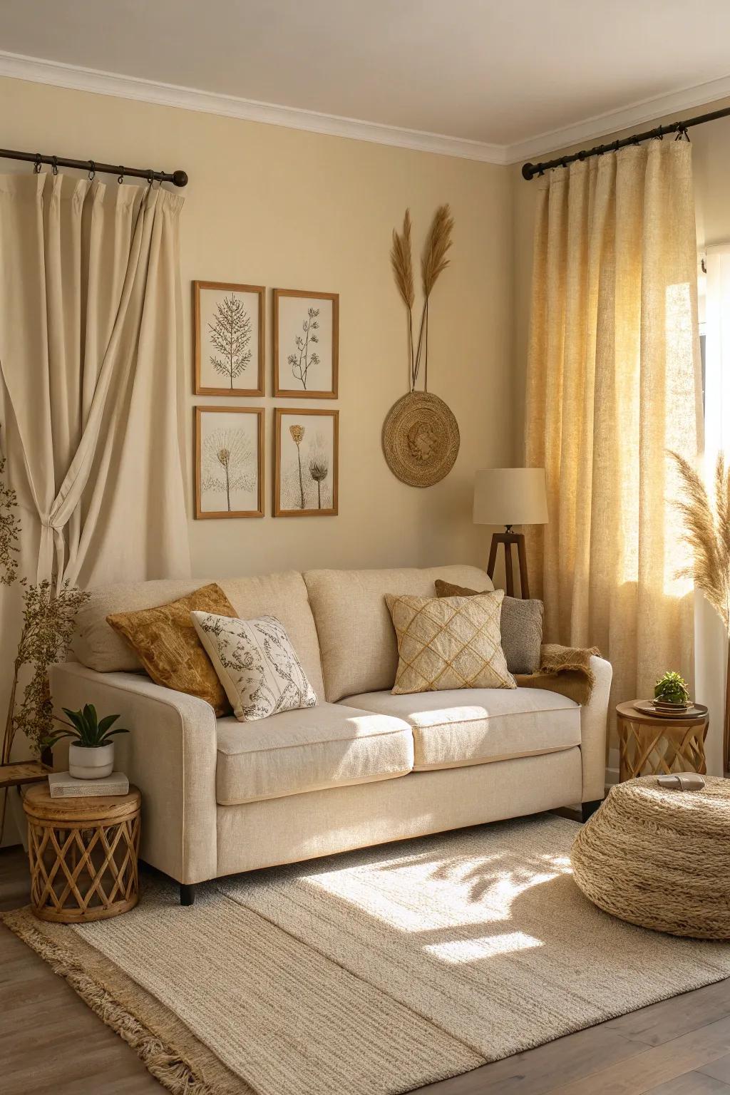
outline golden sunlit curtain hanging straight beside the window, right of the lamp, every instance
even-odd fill
[[[667,457],[697,454],[700,377],[692,146],[651,141],[538,185],[526,463],[549,639],[599,646],[616,700],[693,680],[692,583]]]

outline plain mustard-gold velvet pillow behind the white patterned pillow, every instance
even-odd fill
[[[193,625],[190,612],[237,616],[216,583],[154,609],[116,612],[106,618],[129,643],[155,684],[205,700],[216,715],[230,715],[231,705]]]

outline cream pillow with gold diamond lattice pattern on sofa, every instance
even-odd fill
[[[505,592],[479,597],[386,595],[398,643],[393,694],[517,688],[501,646]]]

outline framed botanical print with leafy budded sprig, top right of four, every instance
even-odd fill
[[[336,400],[339,295],[274,290],[274,394]]]

